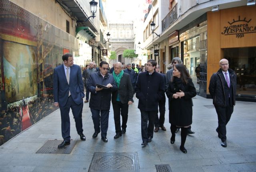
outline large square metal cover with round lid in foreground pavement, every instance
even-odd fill
[[[88,172],[139,172],[138,155],[95,152]]]

